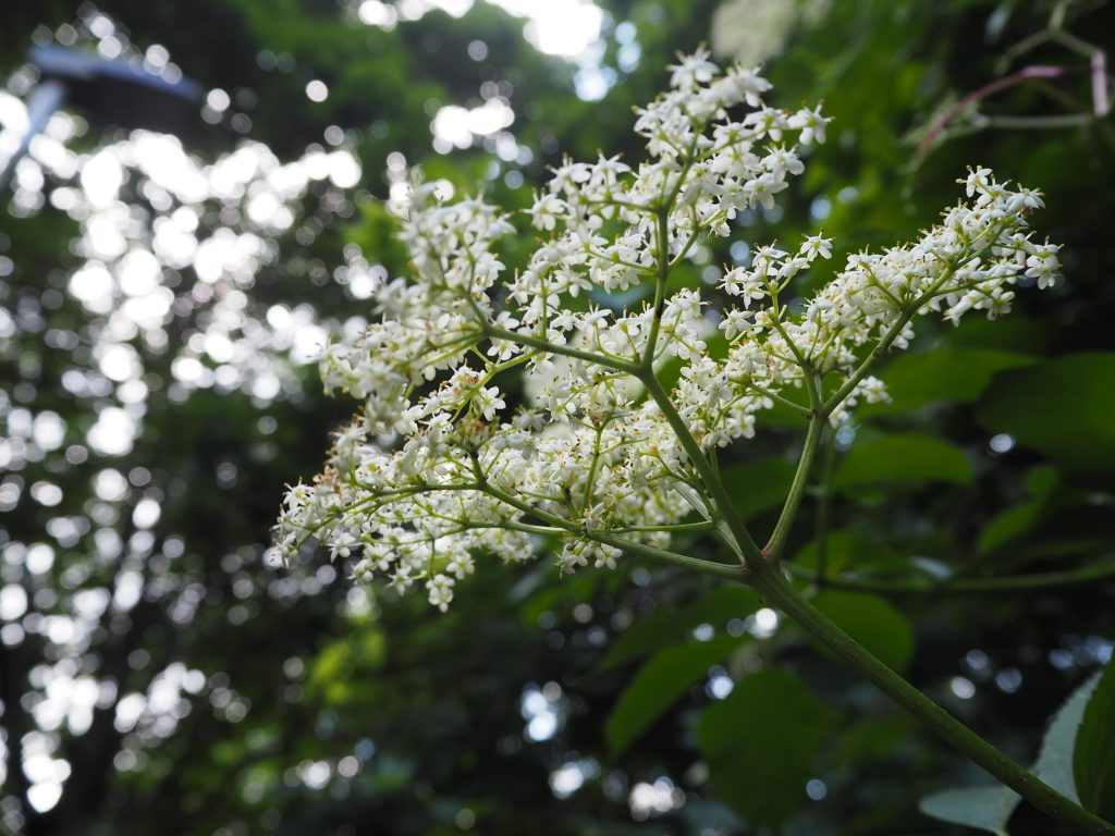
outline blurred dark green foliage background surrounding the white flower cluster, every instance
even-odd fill
[[[306,304],[339,328],[368,313],[332,280],[346,245],[390,275],[406,270],[381,203],[390,153],[458,189],[524,206],[563,154],[638,159],[631,108],[662,87],[677,50],[730,41],[712,37],[714,20],[748,13],[738,0],[598,4],[605,11],[600,67],[613,79],[600,101],[574,95],[575,64],[536,51],[522,20],[486,2],[459,18],[433,10],[391,30],[360,23],[355,6],[336,0],[112,0],[99,8],[133,43],[163,45],[186,75],[229,93],[226,117],[185,137],[202,158],[249,137],[289,159],[320,146],[330,126],[342,129],[362,183],[347,195],[314,184],[295,225],[275,236],[278,257],[248,291],[260,321],[270,305]],[[811,150],[784,208],[745,213],[724,251],[697,252],[681,281],[699,284],[747,247],[816,226],[835,237],[837,264],[849,252],[905,240],[956,200],[956,178],[975,163],[1041,187],[1047,208],[1036,226],[1065,242],[1064,283],[1040,295],[1019,292],[1008,320],[920,323],[912,350],[880,375],[894,402],[864,409],[837,436],[831,485],[817,486],[794,532],[797,566],[806,577],[823,565],[832,577],[938,583],[1115,560],[1112,119],[1040,132],[966,130],[957,121],[923,157],[918,152],[949,106],[1027,64],[1080,70],[1005,89],[981,103],[987,113],[1087,113],[1079,55],[1045,42],[999,65],[1056,9],[1067,31],[1109,51],[1115,4],[785,6],[802,13],[779,22],[785,41],[767,68],[775,101],[824,99],[836,119],[830,144]],[[58,32],[87,12],[71,0],[9,0],[0,11],[4,68],[17,69],[37,27]],[[474,41],[486,47],[482,60],[469,57]],[[324,101],[307,97],[313,79],[328,85]],[[514,138],[533,154],[500,159],[484,143],[435,153],[437,108],[479,104],[485,84],[506,97]],[[91,126],[72,144],[95,149],[117,137]],[[158,215],[135,183],[129,188],[137,214]],[[338,208],[346,204],[351,211]],[[202,218],[209,233],[230,224],[220,206]],[[77,235],[78,224],[50,205],[0,218],[0,255],[13,270],[2,301],[19,322],[0,340],[3,391],[13,408],[60,416],[71,447],[112,400],[60,383],[68,370],[95,364],[88,314],[64,293],[83,264],[69,246]],[[514,242],[508,263],[521,263],[529,244]],[[178,279],[177,295],[200,282],[191,268]],[[288,570],[265,566],[281,485],[312,475],[350,405],[323,399],[304,366],[269,400],[204,388],[171,397],[175,349],[205,327],[204,311],[187,309],[169,317],[165,352],[134,341],[149,392],[127,454],[74,461],[62,446],[2,475],[23,488],[0,519],[2,583],[22,590],[27,605],[4,622],[20,625],[18,641],[9,631],[0,642],[8,754],[0,828],[962,832],[942,829],[918,804],[943,787],[978,785],[977,770],[802,634],[772,623],[747,591],[637,565],[563,580],[542,564],[482,568],[439,615],[419,601],[352,590],[346,567],[320,555]],[[51,343],[51,332],[76,334],[75,346]],[[799,444],[799,420],[787,411],[718,463],[759,532],[773,525]],[[105,468],[129,478],[112,502],[95,490]],[[61,488],[59,504],[31,498],[39,482]],[[137,526],[145,499],[161,514]],[[60,517],[86,521],[84,531],[59,539],[50,532]],[[105,550],[113,538],[120,547]],[[35,544],[52,544],[45,571],[28,567]],[[687,547],[700,554],[705,546]],[[139,593],[128,603],[120,590],[135,583]],[[79,596],[97,591],[106,600],[99,614],[76,619],[87,603]],[[1113,599],[1115,584],[1101,580],[893,602],[828,590],[817,603],[949,710],[1032,762],[1046,718],[1111,658]],[[60,619],[78,624],[79,640],[61,634]],[[203,679],[175,690],[159,713],[152,698],[168,670]],[[1101,729],[1096,739],[1111,737],[1111,670],[1101,687],[1107,702],[1086,715]],[[47,718],[40,707],[65,699],[51,675],[97,683],[88,722]],[[148,701],[129,725],[120,718],[132,694]],[[55,762],[68,765],[60,798],[41,813],[28,798],[38,779],[18,764],[42,743],[36,735]],[[1103,791],[1112,786],[1109,761],[1088,766],[1102,756],[1077,748],[1077,768],[1106,781],[1082,787],[1095,805],[1111,800]],[[1051,832],[1025,805],[1005,808],[998,826],[1007,818],[1014,834]]]

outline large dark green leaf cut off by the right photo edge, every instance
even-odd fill
[[[979,419],[1078,472],[1115,469],[1115,353],[1069,354],[997,375]]]

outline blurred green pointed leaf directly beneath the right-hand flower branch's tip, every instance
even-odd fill
[[[1012,351],[939,346],[918,354],[902,354],[881,377],[890,392],[890,404],[864,404],[861,417],[903,414],[937,401],[970,401],[991,382],[997,371],[1034,362]]]

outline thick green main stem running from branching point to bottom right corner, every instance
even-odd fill
[[[752,566],[749,583],[846,664],[924,723],[957,751],[1018,793],[1039,810],[1082,834],[1115,834],[1115,825],[1044,784],[933,702],[831,622],[769,564]]]

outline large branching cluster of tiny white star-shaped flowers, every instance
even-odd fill
[[[842,420],[857,398],[885,399],[867,369],[909,343],[915,313],[996,317],[1019,278],[1053,283],[1057,247],[1026,231],[1040,196],[978,168],[963,181],[972,201],[913,244],[851,256],[804,302],[788,288],[832,256],[821,235],[729,270],[716,313],[697,291],[671,291],[701,236],[773,205],[803,171],[793,140],[823,142],[828,121],[768,107],[755,70],[720,74],[704,52],[672,69],[636,123],[649,161],[558,168],[530,211],[546,240],[514,275],[495,249],[511,217],[413,181],[397,207],[413,273],[380,288],[378,321],[322,361],[327,387],[363,409],[314,484],[290,488],[283,556],[317,537],[358,577],[421,584],[443,611],[479,555],[518,561],[560,538],[565,571],[652,556],[679,529],[718,528],[708,460],[695,459],[753,436],[757,412],[777,401]],[[591,301],[643,288],[637,307]],[[717,322],[727,344],[714,354]],[[671,361],[667,392],[658,373]]]

